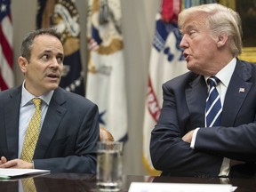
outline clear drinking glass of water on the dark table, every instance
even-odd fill
[[[98,142],[96,176],[100,191],[122,188],[123,142]]]

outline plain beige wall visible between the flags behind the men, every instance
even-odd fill
[[[86,0],[76,0],[82,27],[83,60],[86,60],[84,51],[86,47],[86,2]],[[146,174],[142,164],[142,127],[148,83],[148,63],[159,0],[121,0],[121,4],[129,120],[129,140],[124,148],[124,173]],[[15,83],[21,84],[23,76],[18,68],[17,58],[20,55],[23,37],[28,31],[36,28],[36,0],[12,0],[12,20]]]

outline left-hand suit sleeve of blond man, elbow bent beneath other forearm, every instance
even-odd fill
[[[174,92],[170,85],[166,84],[163,85],[163,92],[163,108],[151,132],[150,140],[150,154],[154,167],[174,175],[179,173],[193,177],[209,177],[209,174],[213,177],[218,176],[221,156],[192,149],[189,143],[181,140],[184,134],[196,128],[189,124],[190,116],[186,109],[184,92]]]

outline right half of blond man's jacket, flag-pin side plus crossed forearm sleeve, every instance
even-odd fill
[[[255,163],[256,68],[254,64],[243,62],[238,62],[236,67],[225,96],[221,126],[200,129],[195,148],[245,163]],[[243,92],[240,92],[241,88]]]

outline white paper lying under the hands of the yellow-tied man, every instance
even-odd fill
[[[39,169],[1,169],[0,168],[0,179],[7,179],[11,177],[21,176],[21,175],[32,175],[32,174],[42,174],[50,172],[50,170],[39,170]]]

